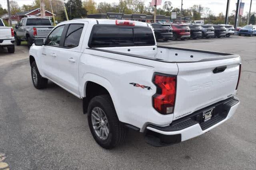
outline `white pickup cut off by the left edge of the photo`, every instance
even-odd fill
[[[12,27],[6,27],[3,20],[0,18],[0,47],[7,47],[8,53],[15,51],[15,39]]]

